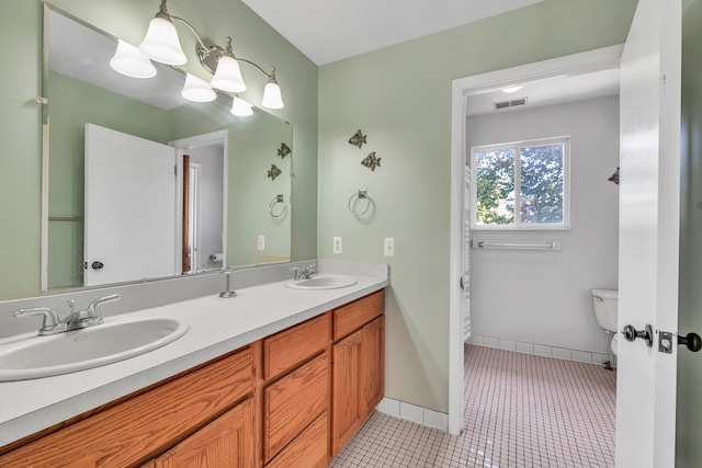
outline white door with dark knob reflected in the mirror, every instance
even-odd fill
[[[174,168],[174,148],[86,125],[86,286],[177,274]]]

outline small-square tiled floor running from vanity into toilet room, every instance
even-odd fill
[[[614,466],[614,372],[466,345],[460,436],[374,412],[328,468]]]

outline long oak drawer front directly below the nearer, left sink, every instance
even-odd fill
[[[242,350],[0,457],[2,467],[117,467],[146,463],[252,390]]]

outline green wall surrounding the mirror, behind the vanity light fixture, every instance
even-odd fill
[[[138,44],[159,1],[56,0],[52,4],[97,27]],[[317,67],[239,0],[170,0],[172,14],[183,16],[204,36],[223,44],[234,38],[235,52],[261,65],[274,65],[285,107],[274,115],[293,125],[295,199],[293,260],[317,255]],[[0,300],[35,296],[39,292],[41,261],[41,135],[43,3],[36,0],[2,0],[0,37]],[[194,56],[194,38],[180,28],[189,54],[186,71],[207,73]],[[242,66],[249,90],[241,96],[260,102],[262,76]]]

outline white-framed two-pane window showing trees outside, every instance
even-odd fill
[[[568,229],[568,137],[471,148],[474,229]]]

